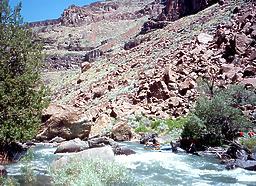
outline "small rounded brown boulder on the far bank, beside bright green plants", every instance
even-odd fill
[[[130,141],[132,139],[131,127],[126,122],[117,123],[112,128],[111,138],[115,141]]]

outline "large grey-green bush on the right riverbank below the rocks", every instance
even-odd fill
[[[211,86],[210,95],[204,91],[197,100],[182,137],[201,139],[203,145],[220,145],[233,140],[239,130],[252,126],[240,108],[256,105],[256,94],[241,85],[230,85],[227,89]]]

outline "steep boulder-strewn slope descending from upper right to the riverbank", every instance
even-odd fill
[[[46,72],[52,102],[82,109],[93,135],[105,131],[103,123],[111,117],[115,123],[187,114],[200,77],[222,87],[237,82],[255,87],[255,14],[253,3],[215,4],[136,35],[126,50],[85,63],[82,71]]]

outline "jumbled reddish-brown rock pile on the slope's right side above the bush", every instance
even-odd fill
[[[165,71],[142,72],[134,104],[147,105],[152,114],[177,117],[188,113],[197,98],[199,77],[222,87],[232,83],[256,87],[255,10],[236,7],[232,21],[220,25],[214,35],[201,33],[181,46],[165,62]]]

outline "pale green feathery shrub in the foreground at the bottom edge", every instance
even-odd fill
[[[74,160],[50,174],[54,185],[136,185],[126,168],[100,159]]]

